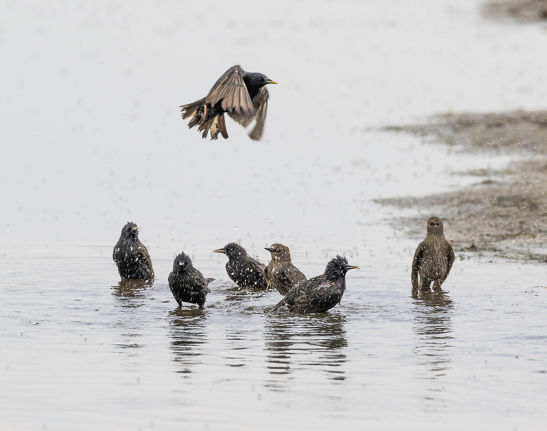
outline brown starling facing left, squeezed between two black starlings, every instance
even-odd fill
[[[272,244],[265,247],[272,255],[272,260],[264,269],[264,277],[268,284],[277,289],[282,296],[287,295],[296,283],[304,281],[306,276],[290,261],[290,252],[283,244]]]

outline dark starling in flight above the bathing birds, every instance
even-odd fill
[[[264,129],[270,97],[266,84],[277,83],[262,73],[245,72],[241,66],[230,67],[206,97],[181,106],[182,118],[193,117],[188,127],[197,126],[200,132],[203,130],[203,138],[211,133],[211,139],[217,139],[219,133],[224,139],[228,138],[225,112],[245,127],[257,120],[249,137],[258,141]]]

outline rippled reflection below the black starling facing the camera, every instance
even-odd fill
[[[176,308],[169,313],[169,336],[174,362],[179,365],[178,373],[190,377],[191,369],[201,364],[200,346],[207,341],[203,308]]]

